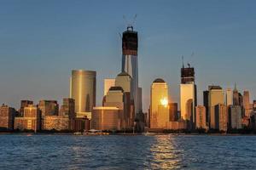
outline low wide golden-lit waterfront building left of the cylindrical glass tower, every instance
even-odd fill
[[[44,116],[42,121],[43,130],[70,130],[70,122],[68,117],[63,116]]]

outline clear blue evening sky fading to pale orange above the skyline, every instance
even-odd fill
[[[1,0],[0,103],[16,109],[21,99],[61,104],[71,71],[84,69],[96,71],[101,105],[103,79],[121,71],[123,16],[135,14],[144,111],[159,77],[179,103],[182,55],[195,67],[199,105],[212,84],[225,89],[236,82],[256,99],[255,6],[253,0]]]

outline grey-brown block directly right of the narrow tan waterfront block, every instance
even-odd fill
[[[229,109],[229,124],[230,128],[241,128],[241,106],[231,105]]]

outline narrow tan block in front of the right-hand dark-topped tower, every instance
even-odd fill
[[[228,130],[227,106],[224,104],[215,105],[215,129],[222,132]]]

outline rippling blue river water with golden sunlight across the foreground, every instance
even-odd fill
[[[0,135],[0,169],[256,169],[256,136]]]

